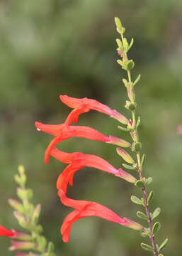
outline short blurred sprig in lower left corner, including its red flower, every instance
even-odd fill
[[[55,256],[52,242],[47,242],[42,236],[42,226],[38,224],[40,216],[40,204],[33,206],[31,199],[33,191],[25,187],[25,170],[23,166],[18,166],[18,174],[15,175],[15,181],[18,183],[17,196],[19,201],[9,199],[8,203],[13,207],[14,216],[19,225],[27,231],[21,233],[17,230],[7,230],[0,226],[0,235],[11,239],[9,250],[28,251],[28,254],[17,252],[17,256]]]

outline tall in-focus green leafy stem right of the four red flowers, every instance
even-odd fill
[[[142,189],[142,198],[140,199],[140,198],[137,198],[137,196],[131,196],[131,201],[132,203],[136,203],[144,207],[145,213],[141,211],[137,211],[137,217],[142,218],[143,220],[146,220],[147,223],[149,224],[149,228],[144,228],[144,231],[141,233],[141,235],[144,237],[149,237],[149,239],[152,242],[152,246],[142,242],[141,247],[144,250],[149,250],[153,252],[155,256],[162,256],[160,252],[168,242],[168,239],[164,240],[164,242],[162,242],[160,246],[157,245],[155,241],[155,235],[157,234],[157,231],[160,229],[161,224],[159,222],[156,222],[153,224],[152,220],[154,220],[154,218],[157,218],[157,216],[161,212],[161,209],[156,208],[153,213],[149,211],[149,203],[152,200],[153,191],[150,191],[147,195],[146,187],[150,183],[152,183],[152,178],[151,177],[145,178],[142,173],[145,155],[143,154],[141,158],[140,151],[142,149],[142,143],[140,142],[139,134],[137,132],[137,128],[140,125],[140,117],[136,119],[136,115],[135,115],[135,110],[137,107],[137,103],[135,102],[135,85],[137,85],[137,82],[139,82],[140,75],[138,75],[137,79],[134,82],[132,81],[131,70],[132,68],[134,68],[135,63],[133,60],[129,60],[127,58],[127,52],[132,47],[134,40],[132,38],[130,43],[127,42],[127,38],[124,37],[125,28],[122,26],[119,18],[115,18],[115,25],[118,33],[120,34],[120,39],[116,39],[116,42],[118,44],[117,50],[118,50],[118,54],[121,57],[121,60],[119,59],[117,60],[117,62],[121,66],[121,68],[123,68],[123,70],[127,72],[127,80],[123,79],[123,84],[127,89],[127,95],[129,97],[129,100],[126,101],[125,108],[127,110],[130,110],[132,115],[132,119],[130,119],[129,123],[127,124],[127,128],[120,127],[120,126],[118,128],[125,132],[130,132],[130,135],[133,141],[131,149],[132,151],[135,152],[136,159],[137,159],[136,164],[134,162],[131,163],[130,161],[127,161],[129,162],[129,164],[132,164],[132,166],[128,166],[126,164],[123,164],[123,166],[126,169],[136,170],[139,175],[139,179],[135,183],[135,186]],[[123,156],[123,159],[125,159],[124,151],[123,152],[121,151],[118,153],[120,154],[120,156]]]

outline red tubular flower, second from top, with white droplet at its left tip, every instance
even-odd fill
[[[49,146],[45,151],[45,163],[49,161],[50,151],[56,146],[59,142],[62,142],[64,139],[69,139],[70,137],[81,137],[86,139],[93,139],[100,142],[107,142],[110,144],[117,144],[118,146],[130,146],[129,142],[125,142],[123,139],[119,139],[113,136],[105,136],[101,132],[96,131],[96,129],[90,127],[81,127],[81,126],[69,126],[67,124],[42,124],[40,122],[35,122],[35,127],[38,131],[47,132],[55,136],[50,142]]]

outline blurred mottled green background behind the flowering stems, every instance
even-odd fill
[[[55,242],[58,255],[145,256],[139,233],[99,218],[74,223],[70,242],[64,244],[59,228],[71,209],[57,198],[55,183],[65,164],[44,152],[52,137],[37,132],[35,120],[47,124],[64,122],[69,107],[60,94],[94,98],[126,114],[125,72],[116,63],[114,17],[135,38],[129,56],[135,60],[132,78],[142,74],[136,87],[137,113],[142,118],[140,137],[147,154],[144,173],[152,176],[152,210],[161,207],[161,230],[157,241],[168,237],[165,256],[180,256],[182,245],[182,1],[133,0],[6,0],[0,1],[0,223],[18,228],[7,199],[15,198],[13,176],[25,165],[34,202],[42,203],[41,223],[47,239]],[[104,114],[81,115],[79,124],[103,134],[128,139],[118,122]],[[97,154],[118,168],[122,162],[115,148],[102,142],[69,139],[59,149]],[[68,195],[96,201],[120,216],[138,221],[141,210],[130,202],[140,190],[115,176],[85,168],[75,174]],[[142,221],[141,221],[142,222]],[[145,224],[145,223],[143,223]],[[9,241],[0,239],[1,255]]]

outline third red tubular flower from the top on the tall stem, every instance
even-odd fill
[[[108,163],[108,161],[102,159],[99,156],[81,154],[79,152],[68,154],[56,148],[52,149],[50,154],[54,156],[55,159],[69,164],[69,166],[64,169],[62,174],[60,174],[57,179],[57,189],[62,188],[64,193],[67,192],[68,182],[72,186],[74,173],[79,169],[83,168],[84,166],[100,169],[101,171],[106,171],[131,183],[136,182],[135,177],[127,174],[127,172],[123,171],[122,169],[115,169],[111,164]]]

